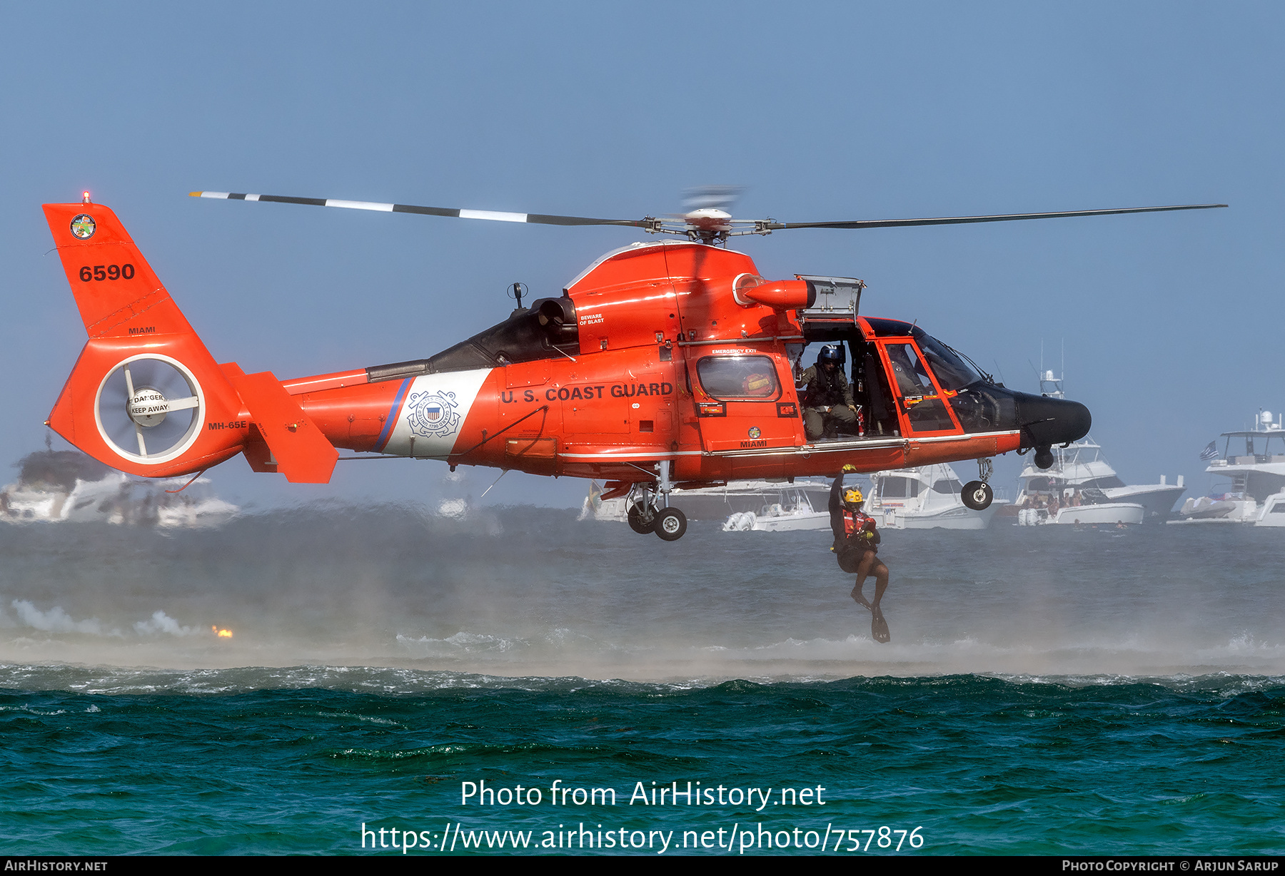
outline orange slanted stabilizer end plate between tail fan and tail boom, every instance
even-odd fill
[[[339,451],[285,392],[280,380],[271,371],[229,374],[229,378],[272,451],[276,470],[290,483],[329,483]]]

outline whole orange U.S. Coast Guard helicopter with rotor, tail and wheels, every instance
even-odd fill
[[[326,483],[339,459],[414,457],[607,482],[639,533],[686,532],[675,488],[978,461],[964,504],[991,504],[991,457],[1086,435],[1078,402],[1007,389],[915,324],[860,312],[856,277],[763,277],[727,247],[793,229],[871,229],[1110,216],[1226,204],[911,220],[736,220],[711,189],[687,212],[605,220],[287,195],[193,197],[562,226],[666,239],[609,252],[562,294],[428,358],[279,379],[220,364],[109,208],[45,204],[89,334],[45,425],[128,474],[199,477],[244,455],[254,471]],[[797,387],[808,344],[851,375],[855,428],[810,437]],[[339,448],[365,453],[341,457]]]

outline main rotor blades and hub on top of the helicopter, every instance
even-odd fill
[[[1113,209],[1076,209],[1054,213],[1002,213],[992,216],[941,216],[903,220],[838,220],[831,222],[777,222],[776,220],[738,220],[731,217],[731,206],[740,194],[739,186],[702,186],[689,189],[685,213],[672,218],[646,216],[640,220],[589,218],[585,216],[555,216],[549,213],[505,213],[488,209],[460,209],[447,207],[418,207],[414,204],[383,204],[369,200],[339,200],[334,198],[294,198],[289,195],[257,195],[233,191],[193,191],[193,198],[224,200],[260,200],[310,207],[341,207],[369,209],[384,213],[420,213],[448,218],[475,218],[496,222],[527,222],[533,225],[618,225],[642,229],[648,234],[673,234],[702,243],[726,243],[727,238],[745,234],[771,234],[789,229],[894,229],[923,225],[968,225],[973,222],[1014,222],[1038,218],[1070,218],[1077,216],[1121,216],[1124,213],[1162,213],[1180,209],[1212,209],[1227,204],[1174,204],[1169,207],[1121,207]]]

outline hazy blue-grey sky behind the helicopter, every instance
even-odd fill
[[[556,294],[635,230],[197,200],[197,189],[641,217],[748,186],[740,217],[1231,204],[1159,216],[784,231],[771,277],[860,276],[1033,390],[1041,340],[1130,482],[1186,474],[1285,407],[1285,6],[1194,3],[0,4],[0,464],[85,334],[40,204],[122,218],[220,361],[280,378],[429,356]],[[55,446],[64,446],[60,441]],[[970,475],[971,464],[957,466]],[[1011,484],[1014,457],[997,465]],[[461,471],[464,471],[461,469]],[[260,502],[412,498],[437,462],[326,487],[215,469]],[[495,474],[469,475],[474,495]],[[6,478],[5,478],[6,479]],[[510,474],[488,501],[580,502]]]

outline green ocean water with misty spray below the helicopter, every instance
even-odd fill
[[[1280,854],[1282,539],[6,525],[0,849]]]

